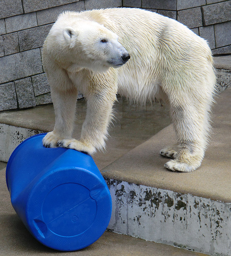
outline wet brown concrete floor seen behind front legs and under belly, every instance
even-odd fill
[[[78,100],[73,134],[75,139],[80,137],[86,110],[86,101]],[[100,170],[171,123],[167,106],[160,102],[140,106],[130,104],[125,98],[120,97],[114,104],[114,110],[114,120],[109,128],[106,150],[97,152],[93,156]],[[32,130],[52,131],[55,125],[53,104],[3,111],[0,113],[0,123]]]

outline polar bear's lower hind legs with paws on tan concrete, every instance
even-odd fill
[[[170,101],[173,127],[177,137],[177,152],[173,153],[173,150],[168,148],[169,151],[165,149],[164,153],[167,151],[166,155],[172,154],[174,157],[165,164],[165,167],[172,171],[194,171],[201,165],[204,157],[210,127],[210,102],[203,99],[204,102],[195,103],[194,98],[193,95],[185,95],[176,101]]]

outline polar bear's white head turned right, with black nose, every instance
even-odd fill
[[[79,20],[64,27],[62,36],[72,63],[82,68],[104,72],[121,67],[130,58],[118,35],[96,22]]]

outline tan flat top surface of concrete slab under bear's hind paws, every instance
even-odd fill
[[[231,116],[226,111],[230,109],[230,98],[231,88],[216,99],[211,142],[198,170],[180,173],[164,168],[169,158],[161,156],[159,151],[175,141],[170,125],[104,168],[104,177],[230,203]]]

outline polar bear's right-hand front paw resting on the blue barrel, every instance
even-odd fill
[[[57,142],[56,146],[71,148],[80,152],[88,153],[89,155],[93,155],[96,151],[94,146],[86,145],[75,139],[61,139]]]

